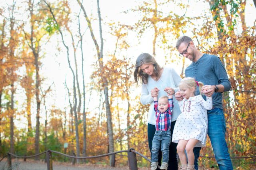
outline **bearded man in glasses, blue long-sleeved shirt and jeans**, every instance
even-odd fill
[[[226,124],[223,114],[222,92],[231,88],[227,72],[220,58],[215,55],[208,55],[198,51],[190,37],[182,36],[176,43],[176,48],[180,55],[192,61],[186,68],[186,77],[195,78],[196,81],[203,82],[205,96],[212,95],[212,110],[207,110],[208,115],[208,136],[212,149],[220,170],[233,170],[228,147],[225,140]],[[196,95],[199,94],[197,89]],[[204,99],[206,100],[206,97]],[[182,100],[182,96],[175,94],[177,100]],[[194,148],[195,169],[198,170],[197,159],[201,148]]]

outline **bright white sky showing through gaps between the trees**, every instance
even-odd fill
[[[77,9],[76,11],[79,12],[79,8],[77,6],[76,0],[71,0],[72,1],[72,10]],[[0,0],[1,4],[6,4],[6,2],[10,3],[9,0]],[[121,23],[125,23],[127,25],[132,25],[134,22],[138,21],[138,17],[134,15],[132,12],[128,14],[122,13],[123,11],[126,11],[131,8],[135,8],[138,4],[140,4],[140,0],[100,0],[100,10],[101,10],[101,16],[102,16],[102,24],[108,23],[110,21],[117,23],[120,21]],[[186,16],[198,16],[205,11],[209,11],[209,5],[207,3],[203,2],[198,2],[198,1],[187,1],[189,2],[189,8],[186,12]],[[187,3],[186,2],[186,3]],[[96,0],[94,1],[86,1],[84,6],[87,11],[87,15],[89,16],[91,12],[93,13],[94,18],[98,18],[97,14],[97,4]],[[185,3],[185,1],[184,1]],[[184,10],[179,10],[177,7],[172,7],[175,12],[184,14]],[[200,9],[200,10],[198,10]],[[169,12],[169,9],[162,9],[163,11]],[[171,9],[170,9],[171,10]],[[252,26],[254,21],[256,20],[256,8],[254,7],[253,1],[252,0],[247,0],[246,4],[246,24]],[[80,14],[81,19],[84,20],[83,13]],[[76,18],[73,16],[74,19]],[[1,18],[0,18],[1,19]],[[82,21],[81,20],[81,21]],[[76,20],[74,20],[76,22]],[[83,22],[83,21],[82,21]],[[96,39],[98,41],[98,44],[100,44],[100,39],[98,37],[98,20],[94,20],[92,23],[92,28],[94,29],[94,33],[96,35]],[[85,24],[84,24],[85,25]],[[77,30],[77,23],[72,24],[72,28]],[[82,30],[85,30],[86,26],[82,26]],[[115,40],[113,37],[109,36],[108,33],[105,31],[107,30],[106,25],[103,25],[103,38],[104,38],[104,55],[106,53],[113,53],[114,51],[114,42]],[[125,51],[126,56],[132,57],[134,63],[136,60],[136,57],[140,53],[150,53],[152,54],[152,41],[153,41],[153,36],[152,36],[152,30],[148,30],[148,33],[146,33],[141,39],[140,39],[140,44],[137,43],[136,35],[135,34],[130,34],[128,37],[129,41],[131,42],[131,47],[128,49],[128,51]],[[94,56],[96,55],[95,51],[92,51],[91,49],[94,48],[94,44],[92,42],[92,38],[90,37],[90,32],[87,29],[84,35],[84,40],[86,42],[83,42],[84,44],[84,57],[85,57],[85,62],[84,62],[84,70],[85,70],[85,76],[86,76],[86,83],[89,83],[89,76],[90,73],[93,71],[94,68],[92,68],[91,64],[93,61],[95,61]],[[58,41],[58,46],[62,49],[62,52],[58,52],[56,50],[56,45]],[[71,42],[70,35],[65,36],[65,41],[66,42]],[[135,41],[135,42],[134,42]],[[176,42],[171,42],[171,43],[176,43]],[[69,44],[70,45],[70,44]],[[50,42],[43,46],[44,49],[42,49],[43,52],[45,52],[45,58],[42,59],[42,68],[40,70],[40,74],[42,77],[46,78],[46,82],[43,85],[43,89],[45,90],[52,82],[54,82],[54,86],[52,87],[53,92],[52,94],[54,97],[50,96],[51,99],[47,99],[47,109],[50,109],[52,105],[55,105],[57,108],[61,108],[64,110],[64,103],[65,103],[65,97],[66,97],[66,90],[64,89],[64,82],[65,82],[65,77],[67,80],[68,87],[71,91],[72,89],[72,74],[70,71],[70,68],[68,68],[68,63],[67,63],[67,55],[66,55],[66,49],[62,45],[60,35],[54,35],[51,39]],[[156,49],[156,60],[160,65],[164,65],[165,63],[165,58],[164,54],[168,53],[168,51],[164,52],[163,49],[160,49],[157,47]],[[79,63],[79,69],[81,65],[81,59],[80,59],[80,50],[77,51],[77,60]],[[70,61],[72,62],[72,66],[74,69],[74,63],[73,63],[73,50],[70,45]],[[181,62],[181,61],[180,61]],[[186,61],[186,65],[188,65],[190,61]],[[177,66],[177,64],[180,63],[174,63],[174,64],[168,64],[168,66],[174,67],[176,72],[178,74],[181,73],[181,66]],[[82,73],[79,72],[78,76],[80,77],[79,79],[82,80]],[[80,81],[80,90],[82,91],[82,81]],[[139,91],[139,90],[136,90]],[[17,90],[16,98],[17,100],[20,101],[20,104],[22,104],[23,101],[26,100],[23,90]],[[92,99],[90,104],[96,103],[98,104],[98,94],[93,93]],[[88,93],[86,96],[86,100],[88,101]],[[86,102],[88,104],[88,102]],[[68,98],[66,99],[66,106],[68,106]],[[44,106],[41,105],[41,115],[44,117]],[[82,108],[81,108],[82,109]],[[36,105],[32,108],[32,111],[34,113],[36,112]],[[68,111],[68,110],[67,110]],[[34,116],[35,119],[35,116]],[[44,120],[41,119],[41,122]],[[35,125],[36,121],[32,121],[33,125]]]

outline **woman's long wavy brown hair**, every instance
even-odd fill
[[[159,71],[162,69],[162,67],[159,66],[158,63],[156,63],[155,58],[148,54],[148,53],[142,53],[138,56],[135,64],[135,70],[134,70],[134,80],[136,84],[138,85],[138,81],[142,80],[144,84],[148,83],[148,74],[142,74],[143,71],[140,69],[140,66],[142,64],[153,64],[154,66],[154,74],[156,74],[156,80],[159,78]]]

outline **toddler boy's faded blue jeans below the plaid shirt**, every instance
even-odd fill
[[[158,150],[161,146],[163,153],[163,161],[168,162],[169,160],[169,145],[171,143],[171,131],[156,131],[152,141],[152,162],[158,162]]]

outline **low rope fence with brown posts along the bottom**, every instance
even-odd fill
[[[118,154],[118,153],[122,153],[122,152],[127,152],[127,156],[128,156],[128,163],[129,163],[129,169],[130,170],[138,170],[138,166],[137,166],[137,158],[136,158],[136,154],[138,154],[138,157],[143,157],[144,159],[146,159],[148,162],[152,163],[152,161],[149,159],[150,156],[144,156],[143,154],[141,154],[140,152],[134,150],[133,148],[130,148],[129,150],[120,150],[117,152],[112,152],[112,153],[107,153],[107,154],[101,154],[101,155],[97,155],[97,156],[76,156],[74,154],[74,156],[70,156],[67,154],[63,154],[61,152],[57,152],[55,150],[46,150],[40,154],[36,154],[36,155],[31,155],[31,156],[18,156],[12,153],[8,153],[6,154],[3,158],[1,158],[0,162],[7,156],[7,166],[8,166],[8,170],[12,170],[12,156],[15,158],[32,158],[32,157],[36,157],[36,156],[40,156],[42,154],[46,154],[46,163],[47,163],[47,170],[52,170],[52,153],[56,153],[56,154],[60,154],[62,156],[66,156],[69,158],[74,158],[75,159],[92,159],[92,158],[100,158],[100,157],[104,157],[104,156],[110,156],[112,155],[111,158],[111,166],[115,166],[115,155],[118,156],[126,156],[123,154]],[[55,155],[56,156],[56,155]],[[58,156],[57,156],[58,157]],[[148,158],[149,157],[149,158]],[[203,158],[215,158],[214,156],[200,156]],[[230,157],[233,159],[241,159],[241,158],[256,158],[256,156],[236,156],[236,157]],[[74,164],[74,161],[73,161]],[[158,168],[160,168],[160,166],[158,165]]]

